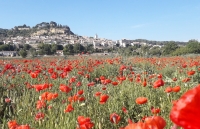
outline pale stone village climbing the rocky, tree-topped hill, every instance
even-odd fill
[[[142,52],[142,46],[148,50],[161,49],[164,44],[170,41],[148,41],[144,39],[129,40],[120,39],[113,41],[98,37],[80,36],[74,34],[67,25],[57,24],[56,22],[42,22],[33,27],[22,25],[12,29],[0,29],[0,55],[15,56],[20,50],[25,52],[31,50],[35,55],[66,55],[83,51],[92,52],[120,52],[120,48],[131,47],[131,54]],[[179,46],[184,46],[185,42],[176,42]],[[46,50],[41,52],[42,48]],[[78,46],[77,46],[78,45]],[[54,48],[52,48],[54,46]],[[71,47],[70,47],[71,46]],[[76,46],[76,47],[75,47]],[[79,50],[71,50],[72,47],[79,47]],[[51,52],[47,49],[53,49]],[[71,50],[71,51],[70,51]],[[65,52],[64,52],[65,51]],[[129,53],[130,53],[129,52]],[[144,52],[143,52],[144,53]],[[157,53],[159,54],[159,53]]]

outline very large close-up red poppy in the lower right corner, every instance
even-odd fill
[[[200,85],[184,93],[173,105],[170,119],[185,129],[199,129]]]

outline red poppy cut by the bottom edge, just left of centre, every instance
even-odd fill
[[[91,129],[94,126],[94,123],[91,122],[89,117],[78,116],[78,127],[77,129]]]

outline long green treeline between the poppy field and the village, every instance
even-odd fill
[[[14,45],[14,44],[3,44],[0,42],[0,51],[17,51],[22,57],[30,55],[35,57],[37,55],[55,55],[57,50],[63,50],[64,55],[74,55],[82,52],[113,52],[119,53],[123,56],[179,56],[186,54],[200,54],[200,42],[197,40],[190,40],[186,45],[180,45],[176,42],[169,42],[163,45],[162,47],[156,46],[141,46],[134,45],[123,47],[114,47],[103,50],[94,49],[92,44],[83,46],[79,43],[77,44],[68,44],[66,46],[58,44],[44,44],[40,43],[37,46],[37,50],[32,48],[29,44],[24,45]]]

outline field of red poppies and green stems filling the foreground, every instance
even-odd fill
[[[2,129],[199,129],[200,57],[1,59]]]

